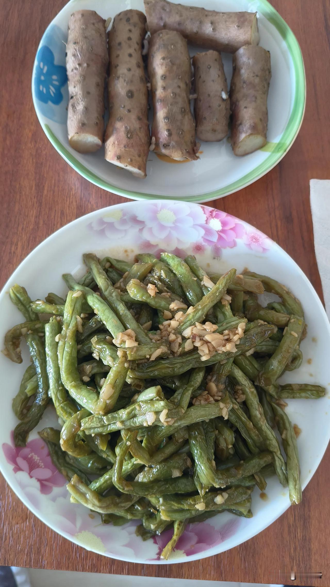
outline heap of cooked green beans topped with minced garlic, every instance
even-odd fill
[[[251,493],[270,474],[298,504],[284,400],[325,388],[278,382],[302,360],[297,298],[253,272],[209,276],[192,255],[83,258],[80,282],[63,275],[66,296],[31,301],[11,288],[23,319],[3,352],[21,363],[25,339],[31,356],[13,399],[16,446],[38,427],[73,504],[103,524],[138,519],[143,539],[172,527],[164,559],[188,522],[222,511],[250,518]],[[281,301],[263,302],[264,291]],[[42,426],[46,410],[57,429]]]

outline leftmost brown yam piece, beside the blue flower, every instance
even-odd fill
[[[67,133],[70,146],[79,153],[93,153],[103,144],[108,68],[105,23],[94,10],[73,12],[69,20]]]

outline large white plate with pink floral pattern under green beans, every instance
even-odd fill
[[[286,372],[283,380],[301,383],[312,380],[326,387],[325,397],[321,399],[288,400],[288,416],[301,429],[297,442],[304,488],[315,473],[330,437],[330,326],[316,292],[298,265],[257,228],[220,210],[168,200],[117,204],[71,222],[42,242],[19,265],[0,294],[2,340],[9,328],[21,322],[18,309],[9,299],[11,286],[15,283],[25,286],[32,299],[45,298],[49,291],[64,295],[66,286],[62,274],[72,272],[77,278],[83,275],[82,255],[90,251],[127,260],[138,252],[169,251],[182,257],[194,254],[210,273],[232,267],[241,272],[248,267],[272,276],[298,296],[308,324],[307,337],[301,343],[304,359],[300,368],[294,373]],[[135,534],[138,521],[120,527],[103,525],[98,514],[70,502],[67,482],[52,464],[48,449],[37,432],[45,426],[59,427],[52,406],[47,407],[37,429],[30,433],[26,447],[13,445],[12,431],[17,421],[11,404],[29,364],[24,348],[22,356],[21,365],[0,356],[5,391],[0,396],[0,470],[26,507],[68,540],[124,561],[186,562],[241,544],[290,507],[288,491],[275,478],[270,478],[266,498],[261,499],[257,489],[253,492],[252,518],[239,518],[224,512],[205,522],[188,524],[169,561],[162,561],[159,554],[171,530],[142,542]]]

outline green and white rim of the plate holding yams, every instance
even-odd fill
[[[68,4],[72,2],[76,2],[77,0],[69,0],[66,5],[57,13],[55,18],[66,8]],[[233,181],[230,184],[227,184],[223,188],[219,188],[217,190],[213,190],[207,193],[199,194],[199,195],[187,195],[182,198],[182,201],[195,203],[195,204],[202,204],[204,202],[213,201],[217,198],[224,197],[226,195],[230,195],[251,185],[254,181],[257,181],[268,171],[271,171],[278,163],[280,163],[281,159],[287,154],[288,150],[292,147],[297,135],[300,131],[302,121],[304,119],[305,113],[305,106],[306,106],[306,76],[305,76],[305,66],[304,66],[304,59],[302,58],[302,52],[300,45],[295,37],[294,33],[292,32],[290,26],[284,21],[282,16],[278,14],[277,10],[268,2],[268,0],[257,0],[258,8],[256,9],[260,15],[263,15],[264,18],[270,22],[271,25],[277,29],[277,32],[280,33],[287,51],[290,55],[292,66],[294,69],[294,99],[292,103],[292,109],[290,118],[285,126],[283,134],[281,136],[281,143],[283,146],[281,150],[274,149],[268,155],[268,157],[262,161],[257,167],[246,173],[243,177],[239,178],[236,181]],[[40,47],[42,46],[43,39],[49,29],[52,26],[55,18],[49,23],[45,32],[40,39],[40,43],[38,45],[38,49],[36,51],[36,55]],[[52,143],[53,147],[55,147],[57,153],[59,153],[63,159],[72,167],[80,176],[84,177],[86,180],[90,181],[97,187],[101,187],[104,190],[121,195],[125,198],[129,198],[130,200],[158,200],[162,198],[166,198],[166,200],[177,200],[178,195],[157,195],[157,194],[145,194],[141,191],[131,191],[131,190],[123,190],[122,188],[116,187],[115,185],[110,184],[108,181],[103,180],[101,177],[97,176],[93,171],[89,170],[83,163],[77,160],[76,157],[71,154],[66,147],[60,142],[59,139],[55,136],[53,131],[50,129],[49,124],[45,123],[43,120],[43,115],[39,112],[38,102],[35,95],[35,87],[33,80],[35,78],[36,73],[36,56],[33,63],[32,69],[32,101],[33,106],[35,108],[36,115],[38,117],[40,126],[42,127],[43,131],[45,132],[47,139],[49,139],[50,143]],[[284,140],[283,140],[284,139]]]

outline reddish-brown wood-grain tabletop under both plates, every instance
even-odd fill
[[[52,232],[123,198],[90,184],[56,153],[33,109],[36,49],[64,0],[0,2],[0,267],[1,286],[19,262]],[[297,261],[322,296],[314,255],[309,179],[330,177],[330,3],[273,0],[300,42],[307,74],[307,109],[297,140],[280,164],[244,190],[213,202],[251,222]],[[6,393],[2,389],[2,393]],[[330,585],[330,450],[299,507],[250,541],[187,564],[154,566],[114,561],[76,546],[34,517],[0,478],[0,564],[173,578]],[[290,581],[290,572],[297,579]],[[322,572],[322,579],[300,573]],[[282,574],[281,574],[282,573]],[[286,573],[284,575],[283,573]]]

